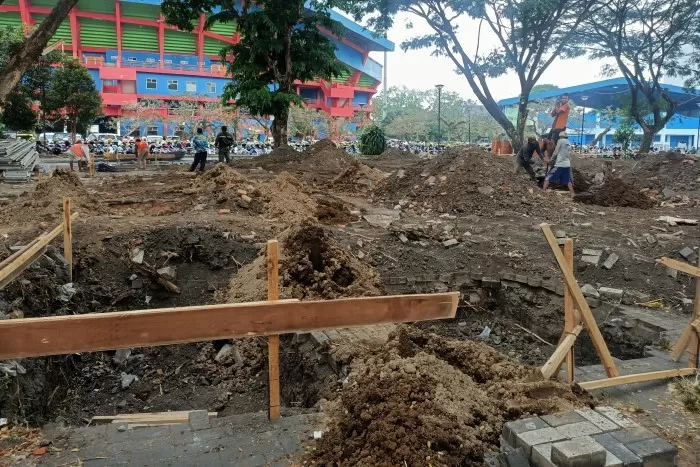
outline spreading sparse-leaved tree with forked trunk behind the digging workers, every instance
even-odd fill
[[[559,57],[583,52],[577,45],[577,32],[583,19],[591,14],[597,0],[365,0],[355,8],[357,19],[367,17],[370,27],[385,30],[399,12],[411,13],[425,22],[431,33],[413,37],[403,44],[408,49],[433,49],[446,56],[457,72],[467,80],[472,92],[510,137],[515,151],[523,142],[527,104],[533,87],[544,71]],[[465,17],[479,20],[474,52],[472,40],[460,37],[459,23]],[[409,27],[411,24],[408,25]],[[481,50],[482,36],[488,30],[497,46]],[[462,36],[463,37],[463,36]],[[508,119],[489,87],[489,78],[513,73],[520,83],[520,102],[516,123]]]

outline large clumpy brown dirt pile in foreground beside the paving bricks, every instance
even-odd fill
[[[485,344],[400,327],[352,364],[329,429],[307,461],[321,465],[483,465],[503,424],[587,405],[588,398]]]

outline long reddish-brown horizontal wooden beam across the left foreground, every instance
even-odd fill
[[[0,321],[0,360],[454,318],[459,292]]]

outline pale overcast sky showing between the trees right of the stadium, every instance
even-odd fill
[[[406,21],[413,21],[413,29],[406,29]],[[429,26],[419,18],[402,14],[396,18],[394,27],[389,31],[388,39],[396,44],[396,50],[387,55],[389,86],[407,86],[416,89],[433,88],[436,84],[444,84],[445,90],[456,91],[466,98],[475,99],[474,93],[464,76],[455,73],[455,66],[447,57],[433,57],[430,50],[401,50],[401,42],[415,35],[429,34]],[[460,39],[462,45],[473,55],[476,44],[478,21],[465,17],[459,20]],[[496,37],[487,31],[488,26],[482,26],[481,51],[492,49]],[[370,56],[380,63],[384,61],[381,52],[372,52]],[[586,57],[571,60],[556,60],[544,72],[539,84],[555,84],[559,87],[574,86],[605,79],[601,76],[603,61],[593,61]],[[381,87],[379,88],[381,90]],[[496,99],[516,97],[520,85],[515,75],[504,75],[489,81],[489,89]]]

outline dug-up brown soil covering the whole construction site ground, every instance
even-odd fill
[[[396,446],[409,464],[438,465],[458,458],[479,462],[479,452],[495,445],[502,423],[519,414],[587,403],[556,383],[529,380],[532,368],[516,363],[542,364],[563,327],[562,298],[544,288],[561,285],[561,274],[541,223],[574,240],[580,284],[635,293],[634,303],[656,301],[669,316],[690,312],[694,279],[669,274],[655,259],[689,261],[680,251],[700,245],[697,225],[664,217],[699,219],[693,202],[656,202],[649,209],[584,204],[565,192],[542,192],[525,174],[513,174],[512,159],[474,148],[380,167],[392,174],[370,189],[357,181],[353,187],[354,175],[336,188],[333,181],[344,172],[356,173],[345,154],[345,165],[321,166],[323,154],[336,150],[319,144],[311,157],[320,159],[308,165],[270,162],[265,168],[260,157],[246,161],[247,168],[236,163],[240,171],[217,165],[197,176],[159,169],[78,180],[58,172],[23,194],[0,185],[0,198],[8,200],[0,207],[0,259],[11,254],[11,246],[58,225],[63,196],[71,196],[80,212],[73,223],[72,287],[59,236],[46,255],[0,290],[0,319],[264,300],[265,245],[273,238],[280,242],[282,298],[459,290],[454,320],[409,326],[383,348],[348,359],[351,381],[358,383],[342,390],[345,375],[317,368],[313,348],[294,344],[292,337],[282,344],[283,404],[316,410],[319,398],[335,393],[338,407],[348,410],[332,412],[334,428],[324,434],[317,462],[338,456],[345,464],[400,464],[385,457]],[[572,160],[590,180],[599,173],[610,178],[606,162]],[[641,187],[625,174],[636,173],[642,163],[614,161],[613,176]],[[398,163],[389,158],[389,164]],[[593,195],[602,188],[596,179]],[[599,260],[591,261],[587,251],[584,261],[584,249],[599,252]],[[141,254],[141,263],[134,264]],[[603,267],[612,254],[617,261]],[[179,294],[153,275],[168,267]],[[531,285],[510,287],[504,280],[496,288],[481,281],[509,274]],[[602,308],[592,303],[598,313]],[[598,318],[619,358],[653,344],[621,330],[607,313]],[[487,326],[490,337],[478,339]],[[355,347],[355,353],[364,348]],[[242,339],[132,349],[126,359],[115,352],[22,359],[24,373],[0,373],[0,417],[11,424],[82,425],[94,415],[126,412],[264,410],[266,349],[263,339]],[[582,361],[594,362],[594,355],[577,348]],[[416,371],[407,373],[407,366]],[[138,380],[122,387],[122,373]],[[501,390],[504,396],[493,400]],[[511,395],[513,405],[504,405]],[[377,398],[385,403],[367,403]],[[412,429],[419,421],[434,434]],[[346,439],[352,433],[357,436]],[[408,442],[411,436],[415,443]]]

